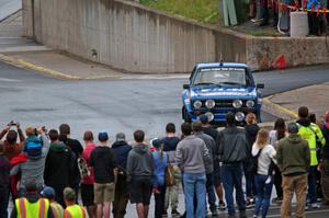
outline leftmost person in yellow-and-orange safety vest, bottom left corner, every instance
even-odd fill
[[[37,194],[35,181],[25,184],[25,197],[16,198],[11,218],[54,218],[49,200]]]

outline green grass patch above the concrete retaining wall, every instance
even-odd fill
[[[140,0],[140,3],[202,23],[218,23],[218,0]]]

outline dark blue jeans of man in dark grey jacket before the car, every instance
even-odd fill
[[[242,163],[223,163],[222,180],[225,190],[225,199],[228,215],[235,216],[234,188],[236,188],[236,200],[240,213],[246,213],[246,200],[242,191]]]

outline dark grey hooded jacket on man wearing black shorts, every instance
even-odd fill
[[[138,144],[129,151],[127,160],[127,181],[131,182],[135,176],[154,175],[154,158],[148,151],[148,147]]]

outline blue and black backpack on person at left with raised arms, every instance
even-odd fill
[[[37,136],[29,137],[23,150],[31,160],[38,160],[42,158],[43,140]]]

